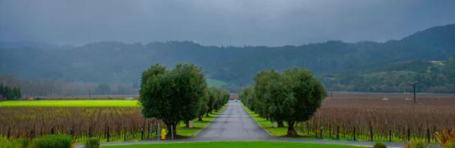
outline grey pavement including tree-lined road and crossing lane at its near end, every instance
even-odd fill
[[[276,141],[276,142],[308,142],[326,143],[336,145],[354,145],[372,147],[374,142],[348,141],[348,140],[321,140],[303,138],[278,138],[270,136],[256,121],[248,114],[240,102],[230,101],[226,109],[212,120],[204,129],[199,131],[192,138],[178,140],[143,140],[128,142],[102,143],[101,146],[109,145],[136,145],[148,143],[165,142],[210,142],[210,141]],[[403,147],[403,142],[384,142],[387,147]],[[82,145],[77,145],[82,147]]]

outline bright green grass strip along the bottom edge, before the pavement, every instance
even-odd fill
[[[303,143],[303,142],[265,142],[265,141],[231,141],[231,142],[173,142],[173,143],[156,143],[156,144],[139,144],[139,145],[119,145],[103,146],[104,148],[303,148],[303,147],[331,147],[331,148],[350,148],[356,147],[351,145],[332,145],[321,143]]]

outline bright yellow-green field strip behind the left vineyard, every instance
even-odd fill
[[[138,101],[72,100],[72,101],[2,101],[0,107],[140,107]]]

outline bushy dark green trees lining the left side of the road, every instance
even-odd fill
[[[163,120],[174,135],[179,122],[188,126],[189,120],[202,120],[228,100],[229,92],[207,87],[201,68],[193,64],[179,63],[173,70],[156,64],[142,73],[139,102],[143,116]]]

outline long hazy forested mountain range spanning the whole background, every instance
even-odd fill
[[[141,72],[153,63],[173,67],[183,62],[203,67],[208,78],[224,81],[232,90],[252,84],[252,76],[260,70],[305,67],[337,91],[403,92],[407,81],[428,81],[422,91],[455,92],[454,75],[445,73],[453,59],[429,62],[446,61],[455,55],[454,24],[385,43],[217,47],[191,41],[100,42],[52,49],[2,47],[0,52],[0,74],[33,80],[137,83]],[[440,79],[441,74],[451,81]],[[388,82],[402,77],[406,82]]]

